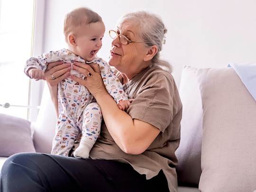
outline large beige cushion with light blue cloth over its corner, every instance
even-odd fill
[[[256,190],[256,101],[231,67],[196,71],[203,107],[202,192]]]

